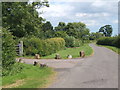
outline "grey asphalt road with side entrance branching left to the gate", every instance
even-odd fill
[[[118,88],[118,54],[94,44],[94,55],[67,60],[24,59],[46,63],[58,72],[56,81],[49,88]]]

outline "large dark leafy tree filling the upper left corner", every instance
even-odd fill
[[[16,37],[35,35],[41,30],[44,21],[36,11],[42,6],[48,6],[48,2],[3,2],[3,27]]]

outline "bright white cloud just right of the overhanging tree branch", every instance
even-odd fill
[[[74,9],[74,7],[66,4],[50,5],[49,8],[44,7],[38,10],[38,12],[44,12],[42,15],[40,15],[42,17],[65,17],[72,9]]]

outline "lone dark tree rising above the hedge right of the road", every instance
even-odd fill
[[[111,25],[105,25],[99,29],[99,32],[103,32],[105,37],[111,37],[112,31],[113,29]]]

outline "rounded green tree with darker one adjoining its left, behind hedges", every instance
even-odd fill
[[[64,31],[68,36],[73,36],[76,39],[85,39],[89,35],[89,29],[81,22],[68,23],[67,25],[64,22],[59,22],[55,31]]]

